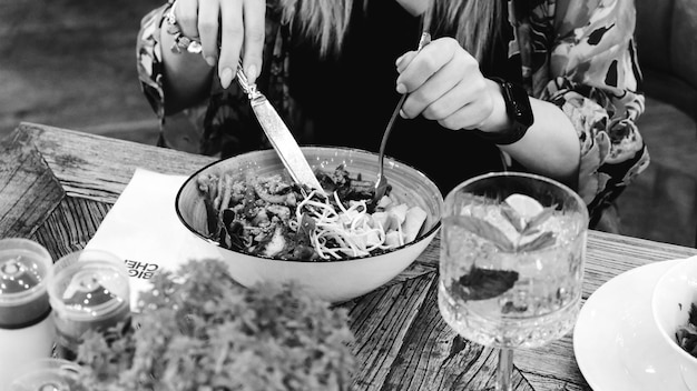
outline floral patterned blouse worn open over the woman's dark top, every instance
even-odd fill
[[[602,210],[649,163],[635,124],[644,112],[644,96],[634,42],[634,1],[508,2],[513,32],[508,57],[517,59],[519,81],[529,94],[557,104],[573,123],[581,149],[577,191],[588,204],[593,227]],[[143,19],[137,43],[139,79],[160,119],[163,147],[170,146],[161,87],[161,52],[169,48],[163,48],[158,38],[163,13],[170,6],[166,3]],[[274,12],[267,12],[267,18],[264,70],[257,84],[291,129],[305,129],[306,116],[289,93],[289,34]],[[214,79],[209,100],[185,110],[197,129],[190,148],[222,157],[267,148],[263,133],[253,126],[246,96],[235,83],[223,90],[217,77]],[[296,137],[302,142],[311,134],[305,131]]]

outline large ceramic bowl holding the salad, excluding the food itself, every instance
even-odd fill
[[[375,153],[335,147],[302,149],[313,168],[333,171],[337,166],[345,164],[352,176],[361,173],[363,180],[375,180]],[[228,264],[230,275],[246,287],[259,281],[295,280],[324,300],[344,302],[383,285],[406,269],[441,227],[443,197],[438,187],[416,169],[385,158],[385,177],[392,186],[392,194],[426,211],[426,221],[414,241],[379,255],[341,261],[301,262],[254,257],[220,248],[206,239],[206,212],[196,178],[213,172],[236,172],[243,179],[249,172],[264,177],[285,172],[285,169],[274,150],[254,151],[203,168],[188,178],[177,193],[176,211],[181,223],[200,240],[215,247]]]

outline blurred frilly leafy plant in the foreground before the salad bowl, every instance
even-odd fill
[[[354,370],[347,313],[300,287],[246,289],[222,261],[154,278],[134,327],[90,331],[80,390],[345,390]]]

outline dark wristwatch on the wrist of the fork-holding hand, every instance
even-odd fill
[[[482,139],[489,140],[499,146],[512,144],[526,136],[528,128],[534,122],[532,108],[530,107],[530,97],[524,88],[517,83],[505,81],[501,78],[490,78],[501,86],[501,94],[505,102],[505,113],[512,121],[510,128],[495,133],[483,132],[477,130]]]

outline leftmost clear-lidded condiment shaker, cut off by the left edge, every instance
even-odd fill
[[[0,240],[0,391],[23,365],[49,358],[55,329],[46,288],[52,260],[41,244]]]

